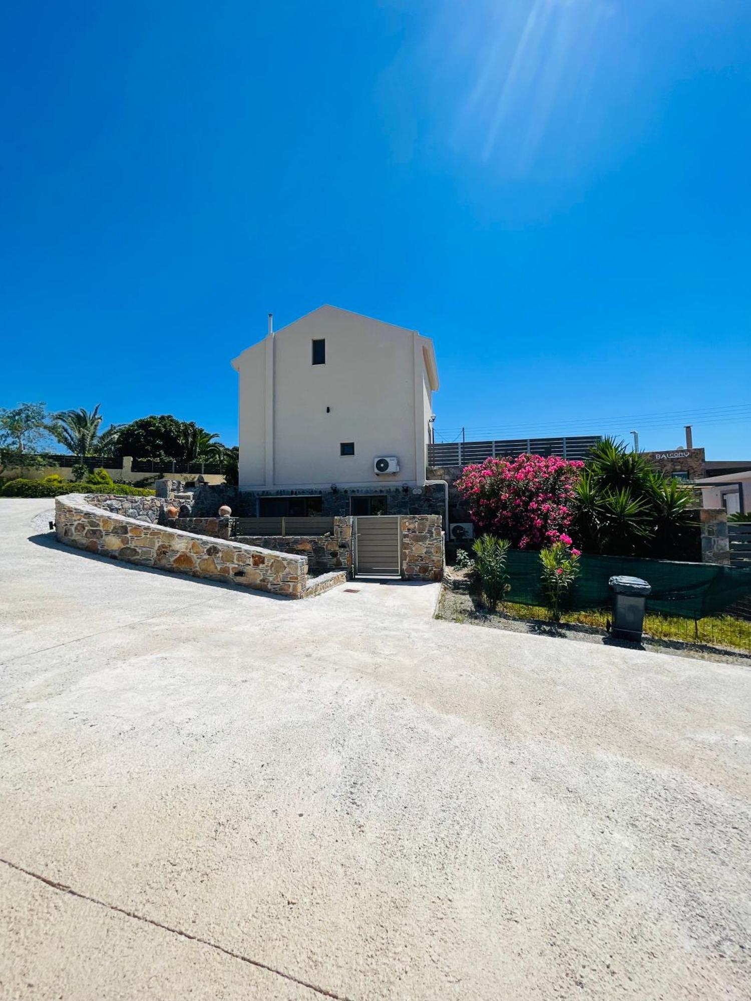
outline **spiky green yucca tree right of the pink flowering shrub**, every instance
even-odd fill
[[[690,486],[665,479],[644,455],[603,438],[577,483],[573,532],[587,553],[679,556],[691,525]]]

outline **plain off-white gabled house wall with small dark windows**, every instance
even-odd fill
[[[325,363],[312,364],[312,341]],[[425,483],[433,342],[416,330],[321,306],[232,361],[239,375],[243,489]],[[341,442],[354,442],[341,455]],[[373,459],[400,471],[378,475]]]

